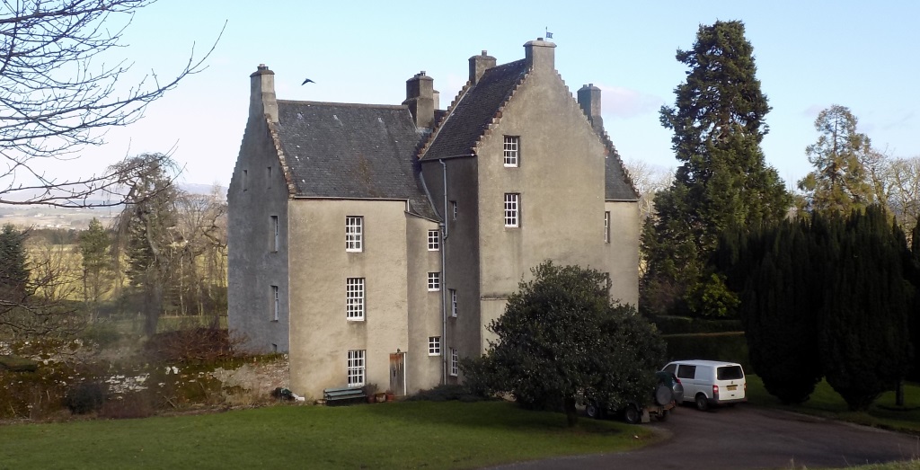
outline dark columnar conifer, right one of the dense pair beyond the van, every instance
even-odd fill
[[[832,227],[837,249],[824,278],[822,365],[847,406],[863,410],[894,390],[908,367],[907,243],[875,205]]]

